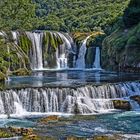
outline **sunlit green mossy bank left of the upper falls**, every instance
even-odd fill
[[[4,35],[4,36],[3,36]],[[0,81],[8,75],[27,75],[30,70],[29,48],[31,42],[26,35],[19,35],[18,44],[11,32],[0,35]]]

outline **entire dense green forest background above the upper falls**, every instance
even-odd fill
[[[89,32],[110,29],[129,0],[3,0],[0,29]]]

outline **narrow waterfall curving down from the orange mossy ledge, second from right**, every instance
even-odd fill
[[[91,35],[90,35],[91,36]],[[78,54],[78,59],[76,61],[76,67],[77,68],[82,68],[84,69],[85,68],[85,55],[86,55],[86,50],[87,50],[87,47],[86,47],[86,44],[87,44],[87,40],[90,38],[90,36],[88,36],[84,41],[83,41],[83,44],[82,46],[80,47],[80,50],[79,50],[79,54]]]

